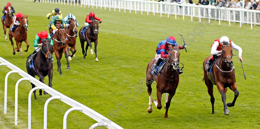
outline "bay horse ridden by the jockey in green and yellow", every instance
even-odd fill
[[[68,60],[68,54],[67,54],[67,47],[68,47],[68,44],[66,43],[67,42],[67,38],[66,38],[66,31],[65,28],[63,25],[59,24],[57,26],[58,28],[58,31],[56,31],[56,34],[54,35],[53,37],[53,51],[55,53],[55,56],[56,56],[56,59],[57,59],[57,65],[58,65],[58,71],[60,72],[60,75],[63,75],[62,74],[62,71],[61,71],[61,62],[60,62],[60,59],[62,58],[62,53],[65,54],[65,57],[67,59],[67,69],[70,70],[70,62]]]

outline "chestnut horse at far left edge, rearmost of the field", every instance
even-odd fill
[[[3,24],[3,29],[4,29],[4,37],[7,41],[6,29],[10,28],[10,26],[14,22],[14,20],[12,17],[11,5],[9,5],[9,6],[7,5],[6,10],[7,10],[7,14],[6,14],[5,20],[2,20],[2,24]]]

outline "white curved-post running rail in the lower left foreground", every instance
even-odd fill
[[[15,125],[17,125],[17,114],[18,114],[18,85],[21,81],[23,80],[28,80],[31,83],[35,84],[37,87],[33,88],[30,92],[29,92],[29,96],[28,96],[28,128],[31,129],[31,99],[32,99],[32,93],[33,91],[35,91],[36,89],[42,89],[44,91],[46,91],[47,93],[49,93],[50,95],[52,95],[53,97],[50,97],[49,99],[47,99],[45,105],[44,105],[44,129],[47,129],[47,107],[48,107],[48,103],[53,100],[53,99],[59,99],[62,102],[66,103],[67,105],[70,105],[72,108],[70,108],[69,110],[67,110],[67,112],[65,113],[64,117],[63,117],[63,129],[67,128],[67,116],[71,111],[81,111],[82,113],[84,113],[85,115],[88,115],[89,117],[91,117],[92,119],[96,120],[98,123],[93,124],[89,129],[93,129],[95,127],[98,126],[105,126],[109,129],[123,129],[122,127],[120,127],[119,125],[117,125],[116,123],[112,122],[110,119],[107,119],[105,116],[99,114],[98,112],[90,109],[89,107],[61,94],[60,92],[50,88],[49,86],[47,86],[44,83],[41,83],[39,80],[33,78],[31,75],[28,75],[26,72],[24,72],[23,70],[21,70],[20,68],[16,67],[15,65],[11,64],[10,62],[8,62],[7,60],[3,59],[2,57],[0,57],[0,66],[4,65],[9,67],[12,71],[8,72],[6,77],[5,77],[5,94],[4,94],[4,114],[7,113],[7,79],[8,76],[11,73],[18,73],[19,75],[21,75],[23,78],[19,79],[15,85]],[[57,127],[60,128],[60,127]]]

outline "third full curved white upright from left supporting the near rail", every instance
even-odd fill
[[[28,96],[28,129],[32,128],[32,94],[37,89],[44,89],[44,87],[34,87]]]

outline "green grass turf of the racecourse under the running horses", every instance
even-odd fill
[[[34,50],[33,39],[35,34],[48,29],[50,20],[46,14],[50,10],[59,7],[65,17],[68,13],[75,15],[80,23],[84,25],[85,17],[90,11],[94,11],[96,16],[102,18],[102,25],[98,35],[98,59],[90,55],[87,51],[86,59],[83,59],[79,38],[77,38],[76,57],[70,61],[71,70],[66,70],[66,59],[63,54],[61,59],[61,68],[63,76],[57,72],[57,61],[53,62],[53,88],[62,94],[90,107],[98,113],[107,116],[123,128],[132,129],[150,129],[150,128],[260,128],[259,122],[259,26],[242,25],[239,23],[213,21],[205,26],[203,36],[196,38],[187,47],[187,53],[181,52],[180,62],[184,64],[184,73],[180,75],[180,83],[175,96],[172,98],[171,106],[168,112],[168,119],[164,119],[165,109],[158,110],[153,105],[153,112],[147,113],[149,97],[146,88],[143,92],[136,95],[133,101],[129,98],[135,97],[134,87],[140,86],[140,82],[145,79],[145,71],[148,62],[155,55],[155,49],[158,42],[166,39],[168,36],[175,36],[177,43],[180,43],[180,35],[185,38],[193,29],[199,25],[199,19],[189,17],[182,20],[182,16],[167,15],[160,17],[159,14],[141,15],[141,12],[134,14],[126,13],[117,9],[109,11],[94,9],[55,5],[45,3],[34,3],[27,1],[9,0],[15,8],[16,13],[22,12],[29,15],[28,41],[30,44],[28,52],[23,51],[20,56],[12,54],[12,46],[4,37],[0,37],[0,57],[13,63],[15,66],[26,71],[26,57]],[[2,0],[0,7],[3,7],[7,0]],[[114,10],[114,9],[111,9]],[[3,35],[3,30],[0,29]],[[210,46],[215,39],[221,36],[228,36],[236,45],[243,49],[243,66],[247,79],[244,79],[241,63],[238,56],[233,57],[236,67],[236,83],[239,96],[235,107],[230,107],[229,116],[223,115],[223,103],[221,95],[216,86],[214,86],[215,97],[215,115],[211,115],[210,96],[207,93],[207,87],[202,82],[203,71],[201,69],[203,60],[210,55]],[[188,41],[186,40],[188,43]],[[23,50],[26,48],[25,42],[22,44]],[[237,51],[233,54],[238,55]],[[14,91],[15,83],[21,77],[17,74],[11,74],[8,78],[8,100],[7,114],[3,114],[4,103],[4,79],[9,68],[1,66],[0,72],[0,127],[1,128],[27,128],[28,125],[28,93],[31,90],[31,84],[28,81],[22,81],[19,84],[18,95],[18,125],[14,125]],[[39,79],[37,77],[37,79]],[[48,82],[46,77],[45,83]],[[46,83],[47,84],[47,83]],[[145,83],[143,83],[145,85]],[[152,86],[152,99],[156,99],[156,86]],[[32,128],[43,128],[43,108],[44,103],[50,97],[49,95],[38,95],[37,100],[32,101]],[[227,91],[227,102],[232,102],[234,93]],[[33,99],[33,96],[32,96]],[[162,97],[164,104],[164,95]],[[122,103],[125,107],[119,108],[119,115],[112,118],[110,112],[117,110],[116,106]],[[48,128],[62,128],[63,115],[71,108],[59,100],[53,100],[48,106]],[[93,119],[79,111],[72,111],[68,115],[67,128],[88,128],[96,123]]]

